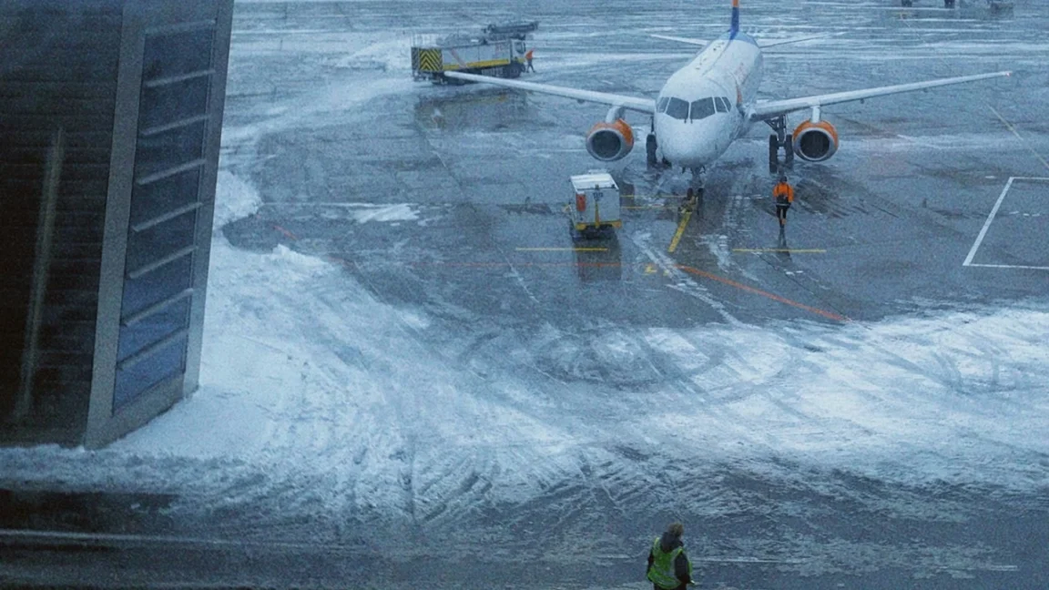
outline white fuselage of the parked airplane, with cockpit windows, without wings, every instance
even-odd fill
[[[727,33],[671,76],[656,99],[654,126],[663,157],[702,168],[750,127],[746,105],[757,96],[762,50],[744,33]]]

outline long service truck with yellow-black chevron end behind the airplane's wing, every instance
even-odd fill
[[[532,33],[538,28],[538,21],[507,22],[489,24],[479,34],[414,36],[411,76],[434,84],[464,84],[445,77],[446,71],[518,78],[524,71]]]

